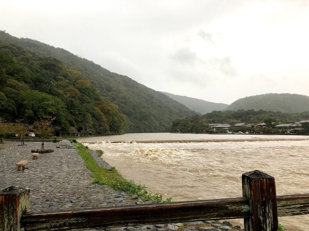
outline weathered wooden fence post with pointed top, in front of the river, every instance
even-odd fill
[[[245,231],[277,231],[275,178],[255,170],[242,176],[243,197],[249,199],[250,217],[244,218]]]

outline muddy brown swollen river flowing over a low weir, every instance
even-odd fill
[[[241,197],[242,174],[256,169],[275,177],[277,195],[309,193],[309,136],[134,133],[79,141],[103,150],[102,158],[126,178],[173,201]],[[242,219],[231,222],[243,226]],[[309,215],[279,222],[309,231]]]

